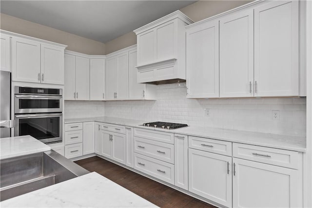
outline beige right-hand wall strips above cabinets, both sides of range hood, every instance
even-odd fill
[[[180,11],[196,22],[230,9],[234,9],[235,7],[251,1],[252,0],[199,0],[181,8]],[[119,38],[106,42],[105,44],[106,54],[109,54],[122,48],[137,44],[137,36],[134,32],[130,32],[120,36]]]

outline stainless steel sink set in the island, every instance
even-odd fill
[[[3,159],[0,161],[0,201],[87,173],[88,170],[53,150]]]

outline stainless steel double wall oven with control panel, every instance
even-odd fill
[[[62,141],[62,89],[15,86],[15,136],[31,135],[43,143]]]

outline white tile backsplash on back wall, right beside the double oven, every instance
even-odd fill
[[[87,118],[104,116],[103,101],[65,101],[64,117],[68,118]]]

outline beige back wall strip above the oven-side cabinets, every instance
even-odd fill
[[[67,50],[88,55],[104,55],[105,44],[57,30],[34,22],[26,21],[5,14],[0,14],[0,28],[26,36],[49,40],[68,45]]]

